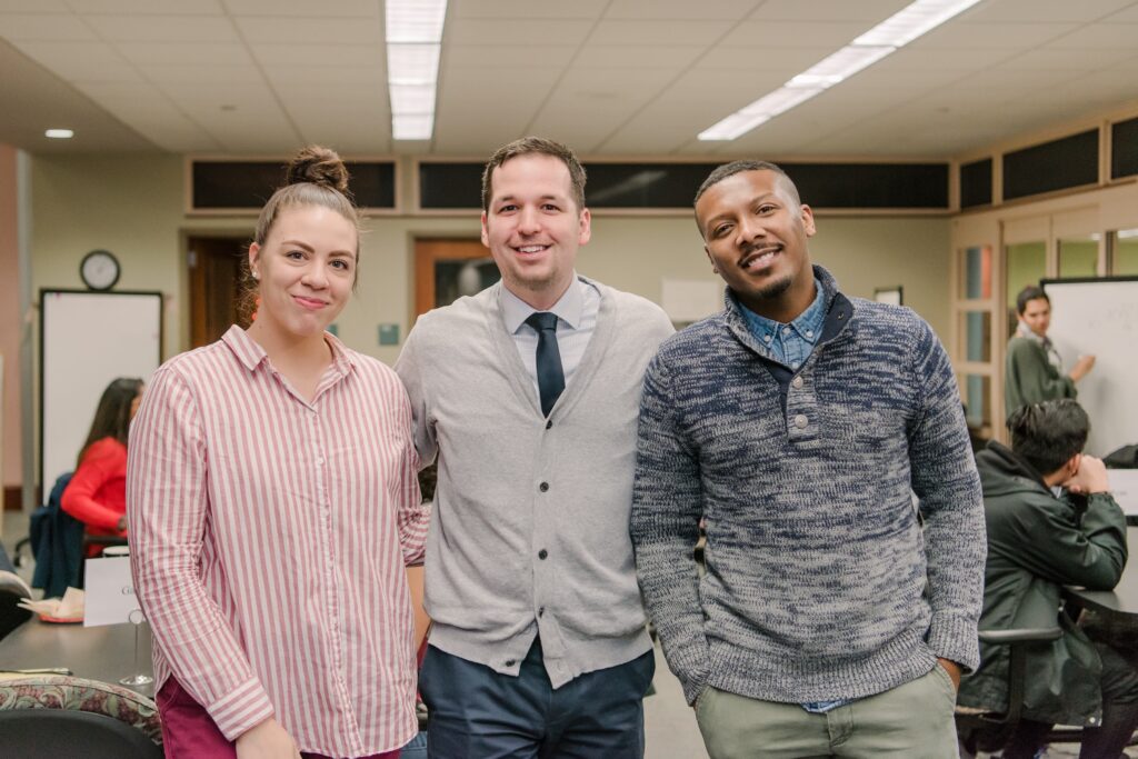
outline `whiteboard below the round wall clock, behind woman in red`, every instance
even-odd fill
[[[162,363],[160,292],[40,290],[40,484],[75,469],[112,380]]]

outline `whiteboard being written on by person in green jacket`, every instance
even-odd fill
[[[1090,415],[1087,453],[1105,456],[1138,443],[1138,278],[1044,280],[1052,300],[1047,336],[1071,371],[1080,355],[1095,368],[1075,386]]]

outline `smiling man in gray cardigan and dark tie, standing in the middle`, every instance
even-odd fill
[[[526,138],[483,176],[502,281],[419,317],[396,371],[438,456],[434,620],[420,691],[432,757],[644,752],[654,671],[628,518],[652,303],[574,271],[591,236],[572,151]]]

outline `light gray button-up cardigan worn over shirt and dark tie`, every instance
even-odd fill
[[[554,687],[651,647],[628,517],[644,369],[673,329],[659,306],[591,283],[596,328],[549,421],[501,283],[420,316],[395,365],[423,463],[438,454],[430,642],[517,675],[539,632]]]

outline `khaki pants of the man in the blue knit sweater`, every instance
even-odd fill
[[[711,759],[957,759],[956,688],[943,667],[824,715],[708,686],[695,719]]]

